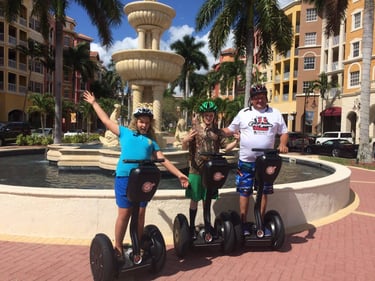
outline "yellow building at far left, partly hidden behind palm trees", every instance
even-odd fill
[[[4,11],[0,8],[0,122],[28,121],[39,126],[39,117],[27,113],[27,107],[31,105],[27,96],[30,93],[54,92],[54,72],[48,70],[41,60],[31,59],[19,49],[20,46],[27,49],[30,40],[48,45],[51,50],[55,44],[53,19],[50,22],[50,37],[45,41],[40,33],[40,22],[31,15],[32,5],[32,0],[23,1],[19,17],[11,23],[6,21]],[[67,17],[64,27],[65,48],[74,47],[81,42],[91,43],[93,40],[86,35],[77,34],[75,27],[75,20]],[[100,63],[97,53],[92,53],[91,59]],[[82,83],[80,74],[76,73],[73,90],[72,77],[71,70],[64,70],[62,98],[77,103],[80,92],[87,89],[89,83]],[[52,116],[47,122],[48,126],[53,126]],[[64,122],[63,129],[69,128],[69,114],[64,116]]]

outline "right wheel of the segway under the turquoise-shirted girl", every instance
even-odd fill
[[[146,225],[142,235],[143,245],[147,245],[148,249],[144,249],[151,254],[152,266],[151,271],[157,273],[164,267],[167,257],[165,241],[159,228],[155,225]]]

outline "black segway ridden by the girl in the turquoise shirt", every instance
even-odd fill
[[[96,234],[90,246],[90,265],[95,281],[111,281],[121,277],[123,273],[145,268],[156,273],[163,268],[166,247],[159,229],[155,225],[147,225],[141,241],[138,238],[139,205],[140,202],[150,201],[154,196],[161,177],[155,162],[163,161],[164,159],[124,160],[125,163],[139,164],[130,172],[127,190],[127,197],[133,202],[130,221],[132,245],[123,245],[125,261],[118,264],[111,240],[103,233]]]

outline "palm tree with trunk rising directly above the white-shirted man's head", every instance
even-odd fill
[[[292,24],[279,9],[277,0],[207,0],[196,17],[196,28],[200,31],[213,21],[215,22],[208,37],[213,55],[219,55],[233,31],[237,55],[246,57],[244,104],[247,104],[252,82],[254,31],[259,31],[262,41],[261,62],[268,63],[273,45],[282,55],[290,50],[293,39]]]

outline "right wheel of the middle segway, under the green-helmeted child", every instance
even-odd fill
[[[217,235],[223,238],[224,254],[231,253],[235,248],[236,237],[229,213],[223,212],[215,219],[215,230]]]

